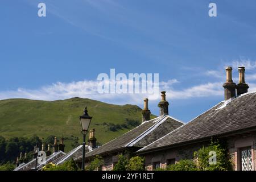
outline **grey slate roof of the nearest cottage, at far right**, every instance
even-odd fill
[[[220,102],[186,125],[142,148],[138,153],[179,146],[254,127],[256,129],[256,92],[242,94],[230,102]]]

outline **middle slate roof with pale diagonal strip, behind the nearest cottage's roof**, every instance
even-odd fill
[[[122,150],[125,147],[144,147],[181,125],[183,125],[182,122],[177,121],[177,119],[169,115],[163,118],[158,117],[151,119],[101,147],[86,153],[86,158],[90,158],[94,155],[109,154],[109,152]]]

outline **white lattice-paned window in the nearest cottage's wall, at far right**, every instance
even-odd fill
[[[253,171],[253,158],[251,147],[241,148],[241,168],[242,171]]]

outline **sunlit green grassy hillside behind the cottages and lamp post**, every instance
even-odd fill
[[[119,106],[77,97],[57,101],[10,99],[0,101],[0,135],[5,138],[73,135],[81,139],[79,115],[85,106],[93,117],[90,129],[96,129],[97,140],[102,144],[134,127],[126,125],[127,121],[141,122],[141,108],[135,105]],[[65,144],[70,150],[69,142]]]

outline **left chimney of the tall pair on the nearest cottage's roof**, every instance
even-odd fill
[[[225,89],[225,101],[236,97],[236,84],[232,80],[232,67],[226,68],[226,82],[223,85]]]

